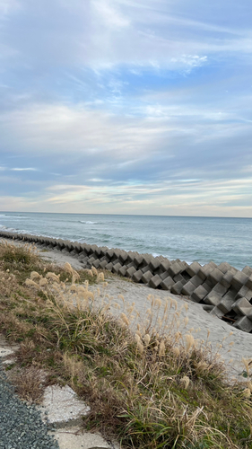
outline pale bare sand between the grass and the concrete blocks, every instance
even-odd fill
[[[39,251],[39,255],[44,260],[50,260],[58,266],[63,266],[65,262],[69,262],[74,269],[83,269],[83,265],[78,260],[60,251]],[[219,352],[225,364],[228,365],[230,379],[244,380],[240,375],[245,369],[241,359],[244,357],[252,360],[252,334],[232,328],[225,321],[209,315],[204,311],[201,304],[192,303],[185,296],[171,295],[162,290],[153,290],[148,286],[135,284],[130,280],[114,275],[108,275],[106,280],[108,286],[104,289],[100,285],[100,296],[106,297],[106,301],[110,301],[111,313],[118,315],[123,312],[124,304],[135,303],[135,310],[139,313],[137,320],[143,323],[144,317],[146,318],[146,311],[150,308],[150,300],[147,300],[148,295],[154,295],[155,298],[161,299],[161,318],[163,316],[162,308],[165,306],[166,299],[169,298],[168,322],[177,320],[178,323],[179,320],[179,331],[183,335],[191,331],[195,339],[200,342],[207,341],[211,345],[213,353]],[[92,286],[90,289],[94,291],[97,286]],[[170,298],[172,298],[172,306],[170,306]],[[177,306],[174,300],[176,300]],[[120,309],[118,309],[118,306],[113,306],[113,303],[119,304]],[[185,326],[184,321],[186,317],[188,317],[187,326]],[[155,319],[154,316],[153,320]],[[233,332],[231,336],[230,332]],[[222,345],[222,348],[220,348],[220,345]]]

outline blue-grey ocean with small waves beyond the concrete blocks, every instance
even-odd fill
[[[169,260],[252,267],[252,218],[1,212],[0,229],[47,235]]]

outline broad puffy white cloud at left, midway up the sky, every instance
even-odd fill
[[[17,146],[14,153],[102,154],[127,160],[130,154],[147,154],[150,145],[166,127],[149,125],[143,119],[117,118],[81,106],[33,105],[0,116],[2,144]],[[17,145],[18,143],[18,145]]]

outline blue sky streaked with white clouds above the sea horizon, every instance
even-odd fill
[[[251,0],[0,0],[0,210],[252,217]]]

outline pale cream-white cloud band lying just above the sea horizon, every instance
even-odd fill
[[[196,184],[199,184],[196,189]],[[244,196],[244,191],[248,191]],[[58,184],[34,198],[0,198],[3,210],[152,215],[251,216],[252,180],[184,180],[164,186],[160,182],[117,186]],[[242,199],[243,205],[231,206]],[[19,207],[18,207],[19,205]],[[22,207],[22,209],[21,209]],[[115,209],[116,207],[116,209]]]

